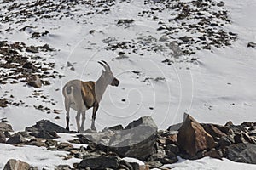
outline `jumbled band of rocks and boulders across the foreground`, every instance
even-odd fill
[[[8,123],[1,122],[0,142],[68,151],[69,156],[65,159],[75,157],[81,160],[73,164],[75,169],[160,168],[164,164],[177,162],[177,156],[191,160],[210,156],[256,164],[256,122],[243,122],[241,125],[227,122],[222,126],[199,123],[185,114],[182,123],[160,131],[150,116],[141,117],[126,127],[108,127],[99,133],[67,132],[65,128],[46,120],[26,127],[24,132],[10,135],[12,131]],[[58,133],[73,133],[77,138],[68,143],[57,142]],[[73,148],[73,144],[87,144],[87,147]],[[124,157],[137,158],[144,165],[125,161]],[[72,169],[67,165],[56,169],[64,167]]]

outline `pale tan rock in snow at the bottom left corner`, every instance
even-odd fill
[[[10,159],[5,166],[3,167],[3,170],[29,170],[30,165],[26,162]]]

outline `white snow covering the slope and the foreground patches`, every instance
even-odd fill
[[[188,0],[186,0],[188,1]],[[247,42],[256,42],[256,2],[250,0],[223,0],[228,8],[232,20],[224,29],[236,32],[238,39],[230,47],[212,48],[211,51],[197,51],[196,64],[179,63],[163,65],[163,59],[169,59],[166,54],[152,54],[143,56],[129,54],[127,59],[116,59],[117,54],[106,51],[106,44],[102,42],[108,37],[129,42],[138,34],[152,35],[160,38],[155,32],[156,23],[137,17],[138,8],[144,8],[142,1],[119,3],[113,14],[93,15],[88,18],[78,17],[76,20],[28,20],[26,25],[37,26],[25,32],[14,31],[1,33],[1,39],[8,41],[26,42],[28,45],[44,45],[57,49],[48,56],[48,61],[55,61],[55,69],[60,71],[61,79],[51,79],[50,86],[41,88],[44,94],[49,94],[56,105],[47,105],[51,110],[62,110],[60,115],[35,110],[33,105],[40,105],[42,100],[30,99],[28,96],[35,88],[24,87],[24,84],[1,85],[1,96],[4,91],[10,91],[15,99],[22,99],[30,104],[29,107],[9,105],[0,108],[0,118],[7,117],[15,131],[24,130],[41,119],[49,119],[62,127],[66,126],[65,111],[61,88],[71,79],[96,80],[102,72],[102,66],[96,61],[108,61],[114,75],[119,79],[118,88],[109,87],[101,102],[96,116],[96,128],[111,127],[116,124],[127,125],[141,116],[152,116],[160,129],[182,122],[183,113],[189,113],[198,122],[212,122],[224,124],[232,121],[235,124],[243,121],[256,122],[256,53],[255,48],[247,48]],[[88,10],[83,9],[82,10]],[[77,12],[79,13],[79,12]],[[163,13],[165,15],[167,13]],[[125,29],[115,25],[118,19],[131,18],[135,22]],[[167,18],[166,18],[167,20]],[[83,24],[83,23],[89,24]],[[24,26],[26,26],[24,25]],[[8,24],[0,24],[5,30]],[[14,25],[13,27],[15,27]],[[23,27],[24,27],[23,26]],[[19,28],[21,26],[17,26]],[[18,30],[15,27],[15,30]],[[49,36],[32,39],[31,32],[49,30]],[[96,33],[90,34],[90,30]],[[67,61],[73,64],[75,71],[66,66]],[[135,74],[132,71],[139,71]],[[148,79],[147,78],[152,78]],[[154,81],[156,78],[163,80]],[[144,81],[146,79],[146,81]],[[60,89],[56,91],[56,89]],[[122,101],[125,99],[125,101]],[[149,109],[149,108],[153,108]],[[71,111],[75,113],[75,111]],[[87,111],[85,129],[90,127],[92,111]],[[60,116],[60,119],[55,119]],[[71,114],[71,130],[76,130],[75,114]],[[62,136],[60,141],[73,139],[72,136]],[[85,145],[84,145],[85,146]],[[76,146],[76,147],[79,147]],[[66,152],[53,152],[44,148],[32,146],[14,147],[0,144],[0,168],[9,158],[21,159],[31,165],[52,169],[55,165],[79,162],[72,159],[63,161],[56,154],[65,155]],[[31,155],[31,152],[33,153]],[[126,158],[125,158],[126,159]],[[130,158],[129,158],[130,159]],[[126,160],[129,160],[128,158]],[[202,158],[196,161],[184,161],[166,165],[174,169],[255,169],[255,165],[241,164],[224,159],[223,161]]]

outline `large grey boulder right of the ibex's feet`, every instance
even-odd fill
[[[84,134],[80,141],[89,139],[100,150],[111,150],[122,157],[134,157],[144,161],[154,153],[157,126],[150,116],[143,116],[128,124],[125,129],[107,129],[101,133]],[[86,144],[87,140],[84,141]]]

